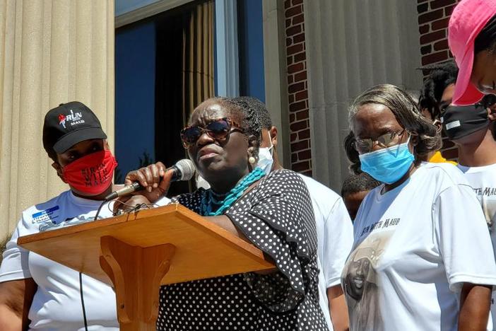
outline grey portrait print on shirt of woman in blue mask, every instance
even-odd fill
[[[386,224],[385,221],[381,223],[381,227]],[[372,231],[373,228],[369,232]],[[372,233],[348,257],[343,269],[343,286],[350,311],[350,329],[367,330],[374,325],[374,330],[381,330],[384,326],[383,313],[379,309],[379,277],[375,269],[393,232]]]

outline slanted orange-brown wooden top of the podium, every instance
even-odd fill
[[[105,236],[141,248],[175,245],[164,285],[274,268],[254,245],[180,204],[23,236],[18,245],[112,285],[100,267]]]

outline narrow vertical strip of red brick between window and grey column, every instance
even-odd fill
[[[291,168],[312,175],[303,0],[285,0]]]

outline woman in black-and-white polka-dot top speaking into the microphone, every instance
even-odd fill
[[[157,330],[327,330],[309,193],[293,171],[265,176],[256,168],[261,125],[256,114],[244,114],[226,98],[208,99],[194,110],[181,138],[211,189],[172,202],[253,243],[277,270],[163,286]],[[164,169],[150,165],[129,173],[126,182],[167,190],[168,182],[160,182]]]

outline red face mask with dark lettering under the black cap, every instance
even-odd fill
[[[66,165],[62,168],[62,178],[79,192],[98,195],[112,184],[116,167],[112,152],[98,151]]]

